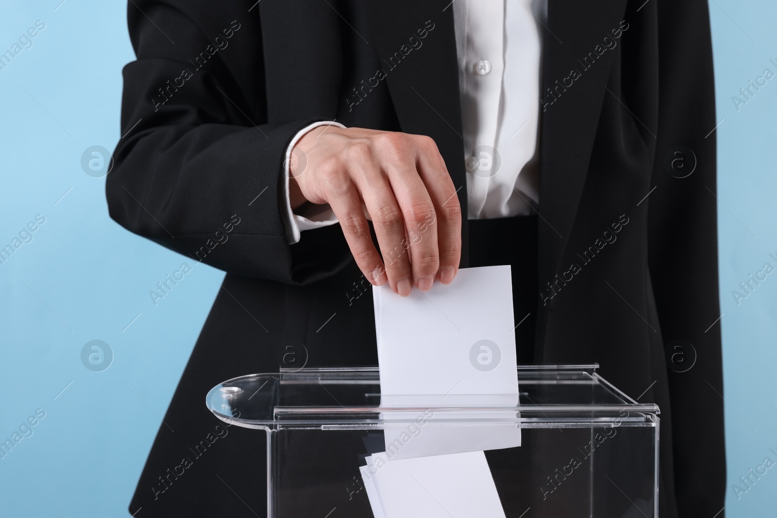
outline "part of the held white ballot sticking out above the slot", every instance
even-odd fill
[[[510,266],[462,268],[452,283],[409,297],[387,283],[373,287],[373,299],[382,403],[490,395],[491,405],[517,404]]]

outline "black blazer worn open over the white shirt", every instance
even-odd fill
[[[308,366],[376,363],[371,297],[348,299],[361,274],[339,227],[287,244],[284,151],[314,120],[429,135],[466,214],[449,3],[128,5],[138,60],[124,68],[110,216],[227,272],[167,422],[203,429],[207,388],[277,368],[289,346],[305,344]],[[706,1],[549,0],[546,26],[535,360],[601,363],[632,397],[655,381],[640,402],[662,409],[662,516],[675,500],[680,516],[713,516],[725,461]],[[667,369],[674,340],[695,348],[687,372]],[[141,487],[164,472],[169,435],[134,509],[172,502],[144,504]]]

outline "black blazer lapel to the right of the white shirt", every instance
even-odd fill
[[[508,0],[509,1],[509,0]],[[549,0],[542,73],[540,289],[559,267],[594,146],[625,0]],[[616,32],[617,33],[617,32]],[[608,40],[609,41],[609,40]],[[611,45],[611,43],[608,43]],[[566,86],[565,86],[566,85]]]

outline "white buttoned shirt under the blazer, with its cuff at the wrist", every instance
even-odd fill
[[[467,216],[531,214],[530,203],[539,203],[540,67],[547,0],[454,0],[452,6]],[[337,222],[327,206],[301,216],[288,202],[291,149],[302,135],[323,124],[343,127],[311,124],[291,139],[286,151],[284,224],[290,244],[299,241],[300,231]]]

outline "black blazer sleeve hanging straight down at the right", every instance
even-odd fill
[[[640,2],[637,2],[639,5]],[[664,342],[680,349],[692,369],[669,373],[674,444],[698,440],[695,412],[723,421],[723,372],[718,288],[716,126],[713,50],[706,0],[657,2],[659,123],[653,186],[648,198],[650,276]],[[667,354],[672,354],[674,348]],[[712,390],[714,388],[714,391]],[[719,394],[716,394],[717,391]],[[723,426],[705,429],[715,448],[702,457],[675,447],[681,515],[695,513],[699,498],[725,495]],[[704,495],[704,496],[702,496]],[[710,496],[711,495],[711,496]],[[723,506],[723,502],[719,502]],[[715,503],[709,509],[719,509]]]

